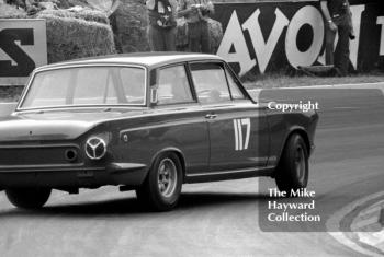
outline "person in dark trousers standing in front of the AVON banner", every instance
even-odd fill
[[[351,11],[348,0],[320,0],[326,19],[326,63],[334,65],[340,75],[347,75],[349,67],[349,39],[354,39]],[[339,36],[335,52],[336,33]]]

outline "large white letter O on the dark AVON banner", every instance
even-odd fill
[[[307,17],[310,19],[307,19]],[[298,31],[308,24],[314,33],[310,47],[306,51],[301,51],[297,48]],[[324,22],[321,13],[312,5],[306,5],[300,9],[292,17],[285,36],[285,54],[292,67],[310,66],[320,54],[324,42]]]

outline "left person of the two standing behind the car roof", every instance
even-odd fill
[[[151,51],[176,51],[176,0],[147,0],[148,38]]]

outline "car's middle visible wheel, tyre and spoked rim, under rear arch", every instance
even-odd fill
[[[139,201],[156,211],[173,209],[180,198],[182,166],[174,153],[162,153],[153,163],[143,185],[136,189]]]

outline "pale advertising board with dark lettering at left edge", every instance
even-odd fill
[[[0,85],[23,85],[46,63],[45,20],[0,19]]]

